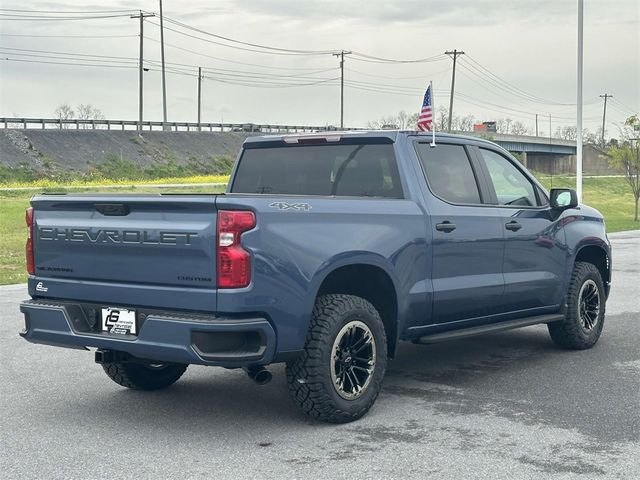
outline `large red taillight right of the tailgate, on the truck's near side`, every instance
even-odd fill
[[[218,211],[218,288],[242,288],[251,282],[251,254],[240,245],[240,235],[256,226],[247,211]]]

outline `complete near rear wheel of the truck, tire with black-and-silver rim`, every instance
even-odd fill
[[[287,363],[289,393],[311,417],[351,422],[375,402],[386,366],[387,338],[373,305],[353,295],[323,295],[303,354]]]

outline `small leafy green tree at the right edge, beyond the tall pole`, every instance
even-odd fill
[[[638,221],[638,200],[640,199],[640,118],[627,118],[621,130],[621,141],[609,147],[611,166],[619,169],[627,179],[635,200],[633,221]]]

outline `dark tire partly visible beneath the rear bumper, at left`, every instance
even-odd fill
[[[146,365],[133,362],[103,363],[107,376],[123,387],[134,390],[160,390],[178,381],[187,369],[181,364]]]

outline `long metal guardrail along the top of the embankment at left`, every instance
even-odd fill
[[[143,130],[171,132],[262,132],[304,133],[333,131],[336,127],[309,125],[267,125],[257,123],[197,123],[197,122],[153,122],[137,120],[80,120],[59,118],[9,118],[0,117],[5,129],[56,129],[56,130]],[[341,130],[359,130],[343,128]]]

